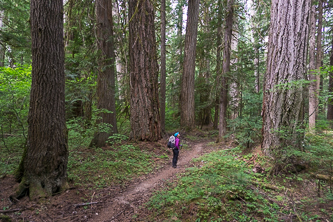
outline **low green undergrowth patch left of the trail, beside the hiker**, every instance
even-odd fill
[[[74,185],[103,188],[151,172],[156,167],[155,158],[165,159],[168,156],[156,156],[131,144],[72,150],[68,160],[68,177]]]

